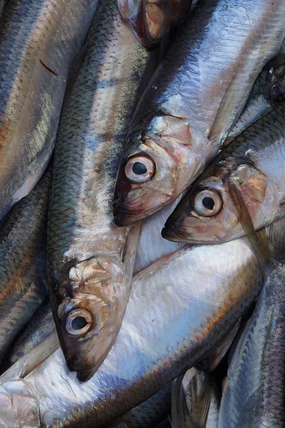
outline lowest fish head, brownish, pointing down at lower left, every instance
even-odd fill
[[[68,369],[81,381],[93,376],[115,342],[123,319],[123,272],[105,258],[77,263],[68,273],[68,284],[56,312],[58,337]],[[58,302],[57,302],[58,303]]]

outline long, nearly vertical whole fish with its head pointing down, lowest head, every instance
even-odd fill
[[[113,191],[130,115],[155,65],[117,1],[103,1],[63,108],[48,217],[51,307],[81,381],[108,354],[128,302],[140,224],[115,227]]]

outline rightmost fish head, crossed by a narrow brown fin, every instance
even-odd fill
[[[254,226],[261,227],[273,190],[254,165],[227,160],[213,165],[192,186],[167,219],[162,237],[176,242],[212,244],[244,235],[229,193],[229,180],[234,180],[242,193]]]

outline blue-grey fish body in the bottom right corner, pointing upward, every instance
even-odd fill
[[[284,219],[270,225],[274,255],[223,387],[219,427],[284,427]],[[256,235],[256,247],[260,248]]]

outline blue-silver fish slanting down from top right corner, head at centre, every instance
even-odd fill
[[[118,226],[171,203],[217,155],[278,54],[284,18],[282,0],[198,1],[130,123],[113,201]]]

